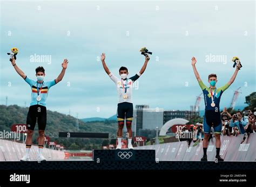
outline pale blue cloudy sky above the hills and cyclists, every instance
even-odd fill
[[[230,106],[241,87],[238,106],[256,89],[254,1],[1,1],[0,104],[29,106],[30,86],[15,72],[6,54],[17,47],[17,66],[30,77],[45,68],[53,80],[69,60],[62,80],[49,91],[49,110],[79,118],[108,118],[117,110],[117,90],[99,60],[118,76],[125,66],[133,76],[144,63],[139,49],[153,52],[133,89],[133,105],[190,110],[201,90],[191,57],[203,82],[216,73],[217,87],[242,68],[220,106]],[[36,55],[41,59],[33,59]],[[46,56],[46,59],[43,59]],[[200,109],[204,110],[203,99]]]

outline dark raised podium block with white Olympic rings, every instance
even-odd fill
[[[93,161],[156,161],[156,150],[139,149],[115,149],[115,150],[93,150]]]

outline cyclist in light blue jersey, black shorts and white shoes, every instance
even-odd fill
[[[32,145],[32,135],[36,125],[36,121],[38,124],[38,131],[39,131],[39,139],[38,139],[38,161],[45,161],[46,159],[42,155],[43,147],[44,147],[44,130],[46,126],[46,99],[48,96],[49,89],[57,84],[59,81],[62,80],[66,68],[68,67],[68,60],[64,59],[62,63],[62,71],[59,76],[49,82],[44,81],[44,68],[37,67],[36,68],[36,77],[37,81],[31,80],[27,77],[24,72],[18,68],[16,65],[15,59],[11,61],[12,66],[17,71],[17,73],[24,78],[24,80],[30,85],[31,87],[31,103],[29,107],[28,116],[26,118],[26,125],[28,127],[28,135],[26,138],[26,154],[22,157],[21,161],[30,161],[30,148]]]

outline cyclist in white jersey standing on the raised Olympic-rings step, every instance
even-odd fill
[[[106,71],[107,75],[110,76],[111,80],[116,84],[117,93],[118,93],[118,104],[117,104],[117,120],[118,120],[118,131],[117,131],[117,140],[118,145],[117,149],[122,148],[122,137],[123,137],[123,127],[124,127],[124,119],[126,120],[126,128],[129,133],[128,138],[128,148],[133,149],[132,147],[132,117],[133,117],[133,105],[132,105],[132,84],[136,81],[140,75],[142,75],[147,67],[147,56],[145,57],[145,62],[143,64],[142,69],[140,71],[130,77],[127,78],[128,69],[126,67],[120,67],[119,75],[120,78],[114,76],[109,68],[107,68],[105,63],[105,53],[102,53],[102,64],[103,68]]]

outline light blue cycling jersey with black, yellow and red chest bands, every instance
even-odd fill
[[[43,83],[38,83],[37,81],[34,81],[30,79],[28,76],[24,78],[24,80],[30,85],[32,92],[31,92],[31,103],[30,106],[32,105],[42,105],[46,106],[46,99],[48,96],[48,91],[49,89],[56,84],[55,80],[49,81],[49,82],[43,82]],[[41,90],[40,97],[41,100],[37,101],[37,97],[39,95],[39,90]]]

